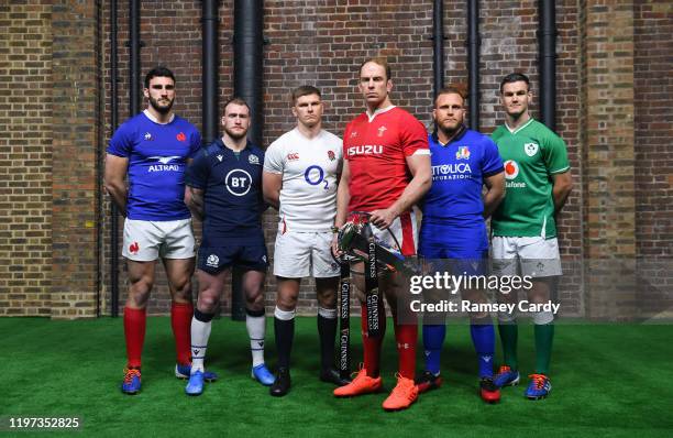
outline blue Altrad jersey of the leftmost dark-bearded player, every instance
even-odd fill
[[[177,116],[162,124],[141,112],[119,127],[107,152],[129,158],[128,218],[190,218],[185,205],[185,168],[200,146],[199,131]]]

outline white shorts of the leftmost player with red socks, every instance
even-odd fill
[[[191,219],[152,221],[126,219],[122,255],[136,262],[191,259],[196,254]]]

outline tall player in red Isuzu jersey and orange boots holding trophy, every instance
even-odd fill
[[[374,234],[404,255],[417,251],[417,223],[412,206],[430,188],[430,150],[426,128],[409,112],[394,106],[390,67],[383,57],[365,61],[358,72],[358,89],[366,111],[352,120],[343,136],[343,173],[338,194],[338,227],[350,212],[366,211]],[[352,218],[355,219],[355,218]],[[389,231],[390,232],[389,232]],[[390,233],[396,237],[390,238]],[[333,241],[334,251],[336,240]],[[363,272],[363,264],[354,271]],[[386,410],[405,409],[418,397],[413,383],[416,369],[417,317],[404,302],[408,288],[398,273],[382,275],[379,291],[386,296],[395,320],[395,338],[399,354],[397,385],[383,403]],[[362,291],[363,277],[356,277],[362,305],[364,365],[349,385],[334,390],[338,397],[374,393],[382,388],[379,375],[380,346],[386,327],[383,299],[378,308],[380,335],[367,332],[366,307]],[[398,305],[399,304],[399,305]],[[401,324],[401,321],[407,324]]]

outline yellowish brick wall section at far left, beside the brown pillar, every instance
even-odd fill
[[[0,315],[51,314],[52,8],[0,6]]]

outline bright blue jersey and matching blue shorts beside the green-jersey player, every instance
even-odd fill
[[[449,144],[441,144],[435,134],[429,143],[432,187],[422,202],[421,254],[429,244],[453,247],[459,253],[484,251],[488,241],[482,187],[484,178],[504,171],[496,144],[468,129]]]

